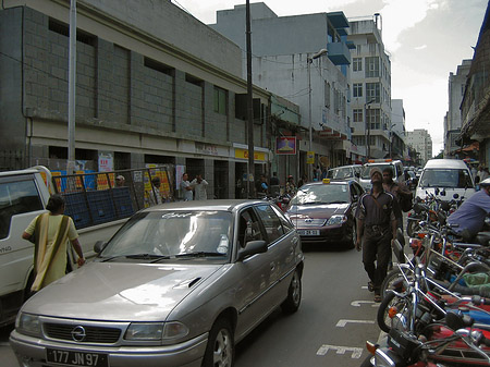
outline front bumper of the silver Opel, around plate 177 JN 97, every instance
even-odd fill
[[[58,343],[20,334],[15,330],[10,335],[10,344],[19,364],[29,367],[59,366],[47,363],[47,348],[106,354],[109,367],[198,367],[203,363],[207,341],[208,333],[205,333],[174,345],[111,347]]]

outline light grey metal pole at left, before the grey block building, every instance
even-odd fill
[[[66,174],[75,172],[76,0],[70,0],[69,136]]]

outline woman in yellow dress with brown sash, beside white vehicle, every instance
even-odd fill
[[[49,212],[37,216],[22,234],[24,240],[34,242],[34,272],[36,278],[30,289],[34,292],[65,274],[66,244],[69,241],[78,255],[76,261],[78,266],[85,264],[75,224],[72,218],[63,216],[64,198],[58,194],[52,195],[46,209]]]

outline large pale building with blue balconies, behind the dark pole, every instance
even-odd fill
[[[210,27],[246,50],[245,5],[217,12]],[[342,12],[278,16],[265,3],[250,4],[253,81],[299,106],[299,126],[279,126],[299,140],[297,174],[313,166],[332,167],[358,158],[350,142],[348,22]],[[246,70],[244,65],[243,76]],[[311,131],[311,134],[310,134]],[[307,151],[315,163],[305,164]],[[293,158],[293,157],[290,157]],[[275,162],[284,172],[289,162]]]

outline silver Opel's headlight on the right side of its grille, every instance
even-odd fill
[[[124,335],[125,340],[161,341],[185,337],[188,328],[182,322],[132,322]]]

